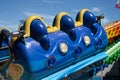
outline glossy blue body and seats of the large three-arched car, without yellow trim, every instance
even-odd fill
[[[92,13],[85,12],[85,21],[80,27],[75,27],[73,20],[68,16],[64,16],[61,20],[60,24],[63,25],[61,30],[49,34],[41,21],[34,20],[30,25],[30,37],[25,37],[23,39],[24,43],[19,39],[14,43],[13,51],[16,63],[20,63],[25,70],[22,79],[41,79],[82,60],[86,62],[89,57],[91,58],[87,59],[88,62],[94,58],[95,60],[92,61],[94,63],[106,56],[105,53],[98,53],[102,52],[107,46],[108,39],[103,27],[96,23],[95,16]],[[68,27],[68,32],[67,29],[64,30],[64,27]],[[85,35],[90,37],[91,43],[88,46],[84,42]],[[98,43],[99,40],[102,41]],[[61,55],[60,52],[59,45],[62,42],[68,46],[66,55]],[[78,47],[81,51],[76,51]],[[75,54],[76,52],[80,53],[79,57],[75,57],[78,56],[78,54]],[[99,57],[94,57],[96,54]],[[56,60],[55,65],[51,68],[48,67],[48,65],[51,65],[48,64],[50,56],[53,56]],[[54,60],[51,62],[54,62]],[[86,64],[82,62],[82,66],[89,65],[92,62],[86,62]],[[73,70],[77,70],[77,68],[73,68]]]

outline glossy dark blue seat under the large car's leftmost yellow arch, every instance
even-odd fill
[[[50,42],[47,36],[46,26],[40,20],[33,20],[30,27],[30,36],[31,38],[38,41],[41,46],[48,50],[50,46]]]

